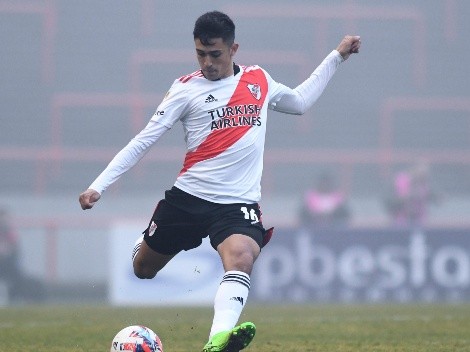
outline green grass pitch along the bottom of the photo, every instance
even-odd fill
[[[0,351],[109,351],[114,335],[142,324],[165,352],[198,352],[211,307],[24,306],[0,308]],[[470,305],[250,305],[247,352],[470,351]]]

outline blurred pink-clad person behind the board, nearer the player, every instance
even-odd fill
[[[321,174],[315,187],[304,194],[300,211],[302,225],[315,228],[342,226],[347,225],[349,218],[346,194],[331,174]]]

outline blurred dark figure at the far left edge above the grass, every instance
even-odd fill
[[[44,286],[24,275],[19,262],[18,236],[7,210],[0,208],[0,282],[6,285],[9,302],[40,302]]]

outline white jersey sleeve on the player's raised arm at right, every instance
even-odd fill
[[[338,66],[343,62],[341,54],[333,50],[313,71],[309,78],[294,89],[283,86],[282,93],[270,102],[270,109],[294,115],[304,114],[325,90]]]

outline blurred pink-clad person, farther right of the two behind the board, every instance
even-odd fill
[[[427,220],[429,206],[438,200],[430,186],[429,165],[419,162],[396,174],[386,207],[395,225],[422,226]]]

